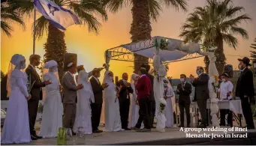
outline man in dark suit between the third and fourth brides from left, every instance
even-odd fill
[[[98,79],[101,76],[101,70],[95,68],[92,70],[92,78],[90,79],[92,85],[92,91],[95,97],[95,103],[91,103],[92,109],[92,133],[101,133],[102,130],[98,130],[98,126],[101,120],[101,108],[102,108],[102,91],[107,88],[107,84],[102,84]]]

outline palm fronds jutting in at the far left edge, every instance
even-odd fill
[[[23,18],[17,12],[17,7],[12,7],[6,1],[1,1],[1,30],[8,37],[11,37],[11,32],[14,31],[11,23],[17,23],[25,28]]]

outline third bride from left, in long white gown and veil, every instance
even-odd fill
[[[83,85],[83,89],[77,91],[77,114],[74,122],[74,133],[83,127],[85,134],[92,134],[92,110],[91,103],[95,102],[92,85],[89,82],[89,74],[82,70],[78,74],[77,84]]]

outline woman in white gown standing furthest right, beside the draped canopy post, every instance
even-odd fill
[[[173,119],[173,102],[172,99],[174,96],[173,88],[170,85],[168,79],[164,79],[164,99],[166,100],[166,106],[164,109],[164,116],[166,118],[165,127],[170,128],[173,127],[174,119]]]

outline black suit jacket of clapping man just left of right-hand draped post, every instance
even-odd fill
[[[195,87],[194,100],[206,100],[209,99],[209,88],[208,88],[209,76],[205,73],[194,79],[192,85]]]

